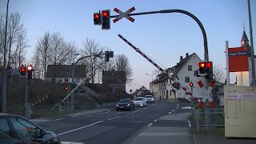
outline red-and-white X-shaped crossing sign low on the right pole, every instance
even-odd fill
[[[206,102],[207,99],[210,102],[210,107],[212,107],[212,108],[216,107],[216,104],[215,104],[213,98],[211,98],[211,96],[210,96],[210,92],[211,92],[211,90],[213,90],[213,88],[215,86],[215,83],[216,83],[216,81],[210,82],[210,86],[206,90],[206,87],[203,85],[202,81],[198,82],[198,86],[201,88],[201,90],[204,94],[204,97],[202,98],[202,101],[199,102],[198,108],[202,108],[205,105],[205,102]]]

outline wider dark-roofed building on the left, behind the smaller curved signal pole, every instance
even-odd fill
[[[73,65],[48,65],[46,72],[47,82],[70,83],[72,82],[72,68]],[[74,66],[74,82],[80,83],[86,78],[86,66]],[[90,82],[90,78],[86,80]]]

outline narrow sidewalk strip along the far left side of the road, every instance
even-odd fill
[[[51,121],[51,120],[54,120],[56,118],[63,117],[63,116],[72,117],[74,115],[97,114],[97,113],[104,113],[104,112],[110,111],[110,110],[111,109],[82,110],[82,111],[79,111],[78,113],[74,113],[74,114],[58,115],[56,117],[34,118],[34,119],[30,119],[30,121],[38,124],[38,123],[41,123],[41,122],[48,122],[48,121]]]

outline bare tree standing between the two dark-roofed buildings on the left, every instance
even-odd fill
[[[93,54],[99,54],[102,52],[103,48],[99,46],[98,42],[95,42],[94,39],[86,38],[86,40],[83,42],[83,49],[81,50],[82,54],[84,55],[93,55]],[[90,71],[94,71],[96,66],[98,66],[102,61],[98,58],[90,57],[90,61],[84,60],[84,62],[88,63],[88,67]],[[96,71],[91,74],[92,83],[94,83],[95,77],[96,77]]]

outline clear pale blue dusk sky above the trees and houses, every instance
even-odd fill
[[[6,13],[6,2],[0,0],[0,13]],[[250,4],[255,38],[256,1]],[[118,38],[118,34],[161,63],[163,68],[174,66],[186,53],[195,52],[203,59],[202,32],[185,14],[133,16],[134,23],[122,18],[116,23],[111,22],[111,30],[94,26],[94,12],[111,10],[111,15],[116,15],[114,7],[126,11],[132,6],[136,9],[133,13],[181,9],[194,14],[205,27],[210,60],[223,70],[226,67],[225,41],[229,41],[230,47],[241,46],[243,26],[250,39],[247,0],[10,0],[9,10],[21,14],[26,27],[31,45],[27,49],[27,60],[30,60],[38,38],[48,30],[75,41],[79,49],[86,37],[94,38],[100,45],[109,46],[114,54],[126,54],[130,59],[134,82],[126,87],[126,91],[134,91],[139,86],[149,89],[151,77],[146,73],[151,74],[156,68]],[[234,78],[231,79],[234,82]]]

